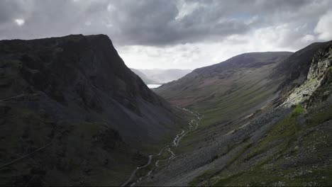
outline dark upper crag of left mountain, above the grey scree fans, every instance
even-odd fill
[[[28,89],[43,91],[63,105],[68,94],[77,94],[89,108],[102,110],[92,92],[104,91],[133,111],[135,98],[157,101],[143,82],[132,74],[106,35],[71,35],[45,40],[1,42],[3,61],[17,62],[22,79],[29,85],[15,88],[22,94]],[[8,65],[11,65],[8,62]],[[11,87],[15,87],[12,84]],[[96,91],[98,89],[98,91]]]

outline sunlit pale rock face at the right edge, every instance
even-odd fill
[[[289,94],[287,100],[282,103],[282,106],[291,107],[308,100],[319,86],[321,86],[323,79],[326,79],[328,68],[331,67],[331,61],[331,47],[319,51],[311,62],[308,76],[306,77],[304,84],[295,88],[292,93]]]

